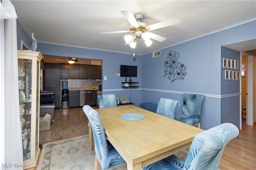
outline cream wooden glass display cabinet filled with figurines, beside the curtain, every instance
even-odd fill
[[[18,50],[20,125],[24,169],[36,166],[39,148],[40,65],[39,52]]]

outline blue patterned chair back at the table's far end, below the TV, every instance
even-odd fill
[[[105,95],[99,95],[99,108],[105,108],[105,107],[116,107],[116,95],[115,94],[105,94]]]

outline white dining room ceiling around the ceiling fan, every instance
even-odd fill
[[[100,35],[100,32],[129,30],[130,23],[120,10],[141,13],[147,25],[179,17],[181,23],[151,31],[166,37],[152,40],[146,47],[137,41],[135,53],[143,55],[188,41],[215,31],[256,19],[256,0],[183,1],[183,0],[11,0],[28,35],[34,32],[38,42],[134,53],[124,45],[124,35]],[[254,41],[254,49],[256,47]],[[253,46],[253,45],[252,45]],[[252,50],[252,49],[249,49]]]

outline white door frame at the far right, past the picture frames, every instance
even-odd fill
[[[254,55],[248,52],[242,52],[242,55],[247,57],[247,68],[246,68],[246,125],[253,126],[253,65]],[[241,55],[241,59],[242,59]],[[240,60],[242,61],[242,60]],[[240,63],[242,64],[242,63]],[[240,80],[241,81],[241,80]],[[241,86],[240,86],[241,90]],[[241,98],[240,98],[241,100]],[[241,110],[241,109],[240,109]],[[242,122],[241,122],[242,123]]]

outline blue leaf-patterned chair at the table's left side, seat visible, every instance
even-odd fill
[[[95,170],[98,170],[98,164],[102,170],[117,166],[124,163],[124,159],[106,140],[105,132],[100,120],[99,113],[89,105],[83,106],[83,111],[88,117],[92,127],[92,134],[94,137],[94,148],[95,148]]]

